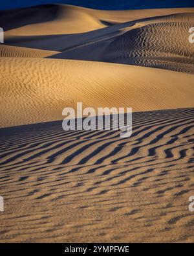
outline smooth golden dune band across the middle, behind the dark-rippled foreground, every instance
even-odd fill
[[[194,107],[193,75],[75,60],[1,58],[1,127],[63,119],[69,106]],[[16,108],[17,106],[17,108]]]

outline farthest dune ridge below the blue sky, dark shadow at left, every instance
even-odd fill
[[[194,12],[194,8],[104,11],[70,5],[42,5],[0,11],[0,24],[6,35],[32,36],[72,34],[101,29],[147,17]]]

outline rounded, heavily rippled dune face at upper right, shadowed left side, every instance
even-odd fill
[[[194,47],[188,39],[193,24],[194,14],[146,21],[111,42],[103,60],[194,73]]]

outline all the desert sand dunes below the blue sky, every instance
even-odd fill
[[[194,242],[194,8],[0,14],[0,242]],[[63,131],[77,102],[132,136]]]

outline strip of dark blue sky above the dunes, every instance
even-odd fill
[[[194,7],[193,0],[0,0],[0,10],[47,3],[64,3],[102,10]]]

